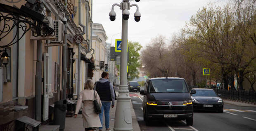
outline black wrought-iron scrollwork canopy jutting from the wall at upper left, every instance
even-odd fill
[[[2,43],[3,39],[8,41],[1,45],[0,48],[17,43],[28,30],[31,30],[32,35],[35,37],[54,35],[54,30],[43,21],[33,19],[21,10],[4,4],[0,4],[0,23],[0,42]],[[7,37],[8,35],[9,37]]]

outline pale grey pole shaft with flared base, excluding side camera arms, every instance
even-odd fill
[[[128,2],[123,2],[127,9]],[[123,8],[123,10],[125,9]],[[128,21],[122,18],[122,53],[119,95],[117,97],[114,131],[133,131],[130,97],[127,85]]]

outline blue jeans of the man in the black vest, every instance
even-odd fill
[[[109,128],[109,110],[110,110],[110,104],[111,102],[102,102],[102,107],[101,107],[101,113],[100,113],[100,122],[103,125],[103,111],[105,112],[105,126],[106,129]],[[102,127],[100,127],[99,129],[102,129]]]

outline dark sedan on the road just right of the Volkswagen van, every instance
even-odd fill
[[[197,93],[192,94],[194,110],[213,110],[223,113],[223,100],[213,89],[194,88]]]

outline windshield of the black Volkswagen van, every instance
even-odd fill
[[[151,80],[149,85],[149,93],[162,92],[188,92],[188,90],[184,80]]]

